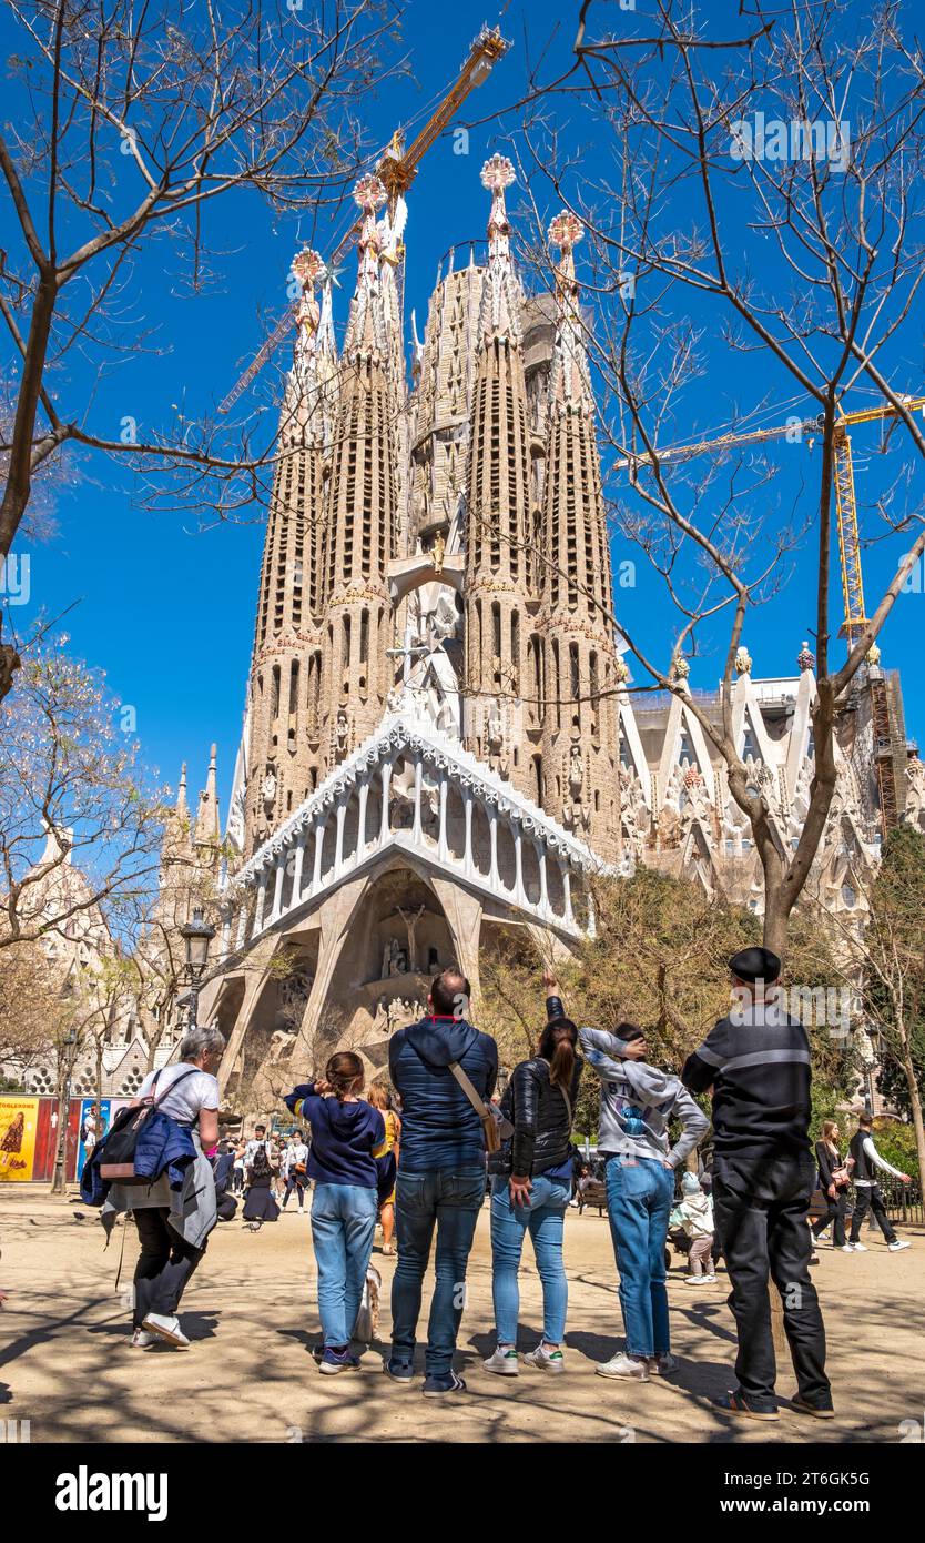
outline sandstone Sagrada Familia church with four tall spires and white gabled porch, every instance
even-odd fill
[[[450,259],[410,360],[404,204],[376,177],[356,187],[341,349],[321,256],[293,265],[302,299],[231,810],[222,839],[213,764],[165,847],[174,875],[193,864],[216,884],[199,1017],[227,1034],[231,1097],[256,1068],[310,1066],[335,1043],[379,1074],[435,969],[458,961],[478,995],[486,947],[526,932],[555,957],[594,930],[603,869],[654,864],[760,907],[691,682],[640,699],[621,653],[581,227],[552,222],[550,287],[529,296],[510,250],[513,168],[492,156],[481,179],[487,255]],[[814,690],[806,645],[774,680],[740,651],[735,733],[785,846],[812,776]],[[718,721],[718,693],[697,701]],[[876,863],[885,787],[893,818],[925,826],[897,680],[871,662],[839,730],[817,864],[836,907],[856,904],[851,867]]]

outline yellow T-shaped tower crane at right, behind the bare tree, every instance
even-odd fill
[[[925,397],[902,397],[906,412],[919,412],[925,407]],[[856,640],[866,626],[866,611],[863,603],[863,577],[860,571],[860,532],[857,528],[857,500],[854,497],[854,463],[851,458],[851,437],[848,429],[856,423],[873,423],[876,418],[896,418],[897,409],[891,404],[883,407],[860,407],[856,412],[842,414],[836,420],[832,434],[836,512],[839,518],[839,555],[842,560],[842,597],[845,602],[845,622],[840,636],[848,639],[848,648],[854,648]],[[631,468],[635,475],[638,466],[651,466],[654,460],[677,461],[694,455],[717,454],[735,449],[738,444],[758,444],[765,440],[780,440],[788,434],[817,435],[823,427],[823,418],[805,418],[775,424],[771,429],[752,429],[746,434],[722,434],[714,440],[698,440],[694,444],[672,444],[655,455],[632,455],[617,461],[618,468]]]

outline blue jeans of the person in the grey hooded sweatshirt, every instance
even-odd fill
[[[626,1353],[668,1355],[664,1239],[674,1171],[652,1157],[610,1157],[606,1187]]]

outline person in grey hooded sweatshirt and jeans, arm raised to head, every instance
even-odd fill
[[[557,980],[543,977],[547,992]],[[547,1015],[563,1015],[557,995],[546,1001]],[[606,1159],[607,1216],[620,1270],[620,1308],[626,1350],[603,1366],[601,1376],[648,1383],[654,1372],[674,1370],[668,1291],[664,1287],[664,1241],[674,1199],[674,1170],[703,1140],[709,1120],[678,1077],[646,1062],[646,1038],[634,1023],[606,1029],[580,1029],[578,1043],[601,1082],[598,1151]],[[681,1136],[671,1145],[672,1120]]]

